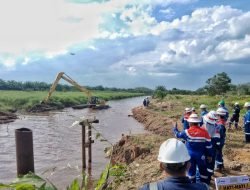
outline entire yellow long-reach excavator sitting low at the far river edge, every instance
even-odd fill
[[[107,108],[109,108],[109,106],[106,105],[104,100],[99,100],[98,97],[93,96],[92,93],[88,89],[84,88],[83,86],[80,86],[77,82],[75,82],[72,78],[70,78],[64,72],[60,72],[57,74],[54,83],[50,87],[48,96],[42,101],[43,104],[47,104],[49,102],[49,99],[50,99],[52,93],[55,91],[56,86],[58,85],[60,79],[64,79],[65,81],[67,81],[71,85],[75,86],[81,92],[84,92],[87,95],[87,98],[88,98],[87,104],[73,106],[72,108],[74,108],[74,109],[82,109],[82,108],[86,108],[86,107],[93,108],[93,109],[107,109]]]

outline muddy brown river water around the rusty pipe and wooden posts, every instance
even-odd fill
[[[48,178],[59,189],[81,175],[81,127],[71,127],[79,117],[99,119],[94,127],[110,142],[117,142],[122,134],[143,133],[143,126],[132,117],[133,107],[142,104],[142,97],[109,101],[108,110],[74,110],[67,108],[34,115],[19,115],[13,123],[0,125],[0,183],[11,182],[16,177],[15,129],[27,127],[33,131],[36,174]],[[95,137],[95,132],[93,131]],[[104,148],[107,142],[95,140],[91,175],[98,179],[108,159]]]

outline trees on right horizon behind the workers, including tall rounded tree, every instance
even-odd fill
[[[154,91],[154,96],[163,98],[167,94],[180,95],[250,95],[250,82],[244,84],[232,84],[232,80],[227,73],[217,73],[211,78],[208,78],[205,86],[197,90],[183,89],[167,89],[165,86],[157,86]]]

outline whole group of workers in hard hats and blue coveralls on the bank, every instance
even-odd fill
[[[250,143],[250,102],[246,102],[244,108],[245,142]],[[204,104],[200,105],[200,109],[201,117],[195,108],[185,108],[181,120],[183,129],[179,131],[177,123],[173,128],[175,137],[182,140],[168,139],[160,147],[158,161],[168,177],[163,181],[146,184],[142,190],[209,189],[214,171],[223,171],[226,131],[227,128],[231,129],[233,123],[235,129],[239,129],[239,103],[234,104],[228,125],[229,112],[223,100],[218,103],[216,111],[207,111]]]

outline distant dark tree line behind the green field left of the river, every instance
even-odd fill
[[[5,81],[0,79],[0,90],[24,90],[24,91],[48,91],[52,84],[46,82],[19,82],[15,80]],[[85,86],[88,90],[99,90],[99,91],[124,91],[124,92],[135,92],[152,94],[153,90],[146,87],[136,87],[136,88],[115,88],[115,87],[103,87],[102,85],[90,87]],[[57,91],[78,91],[77,88],[67,84],[58,84],[56,86]]]

